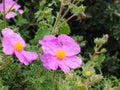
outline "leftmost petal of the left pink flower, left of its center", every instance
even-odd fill
[[[13,47],[11,45],[9,38],[3,37],[2,46],[3,46],[3,52],[6,55],[12,55],[14,53],[14,50],[13,50]]]

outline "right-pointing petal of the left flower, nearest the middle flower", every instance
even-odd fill
[[[21,51],[21,54],[24,56],[24,58],[30,63],[37,59],[38,54],[36,52],[28,52],[28,51]]]

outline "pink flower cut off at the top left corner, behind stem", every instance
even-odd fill
[[[5,4],[3,4],[5,2]],[[4,12],[4,6],[5,6],[5,18],[11,19],[16,16],[16,13],[14,11],[18,11],[20,14],[23,14],[23,10],[21,10],[21,6],[17,4],[14,0],[3,0],[0,4],[0,11]]]

